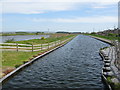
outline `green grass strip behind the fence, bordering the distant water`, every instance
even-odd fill
[[[13,41],[13,42],[10,42],[10,43],[19,43],[19,44],[44,44],[44,43],[50,43],[50,42],[54,42],[54,41],[57,41],[57,40],[64,40],[64,39],[67,39],[67,38],[70,38],[74,35],[68,35],[68,36],[62,36],[62,37],[49,37],[49,38],[46,38],[44,40],[41,40],[41,39],[31,39],[31,40],[24,40],[24,41]]]

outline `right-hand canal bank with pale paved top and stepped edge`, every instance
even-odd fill
[[[109,90],[119,90],[120,89],[120,71],[116,66],[116,52],[115,46],[110,40],[106,40],[99,37],[94,37],[95,39],[101,40],[103,42],[109,43],[110,47],[105,47],[100,50],[100,55],[103,59],[104,66],[102,70],[102,78]]]

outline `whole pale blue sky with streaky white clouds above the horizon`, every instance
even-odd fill
[[[1,0],[3,32],[98,32],[118,25],[119,0]]]

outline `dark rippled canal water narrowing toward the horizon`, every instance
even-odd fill
[[[78,35],[65,46],[38,59],[3,85],[3,88],[99,88],[102,58],[99,49],[109,46]],[[4,89],[3,89],[4,90]]]

